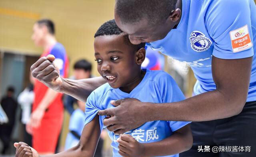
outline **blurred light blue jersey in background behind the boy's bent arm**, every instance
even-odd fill
[[[70,117],[69,131],[75,131],[78,135],[82,135],[82,131],[84,129],[84,120],[85,114],[84,111],[80,110],[79,108],[74,110]],[[71,132],[68,133],[65,143],[65,150],[70,149],[76,146],[79,142],[79,139],[75,137]]]

